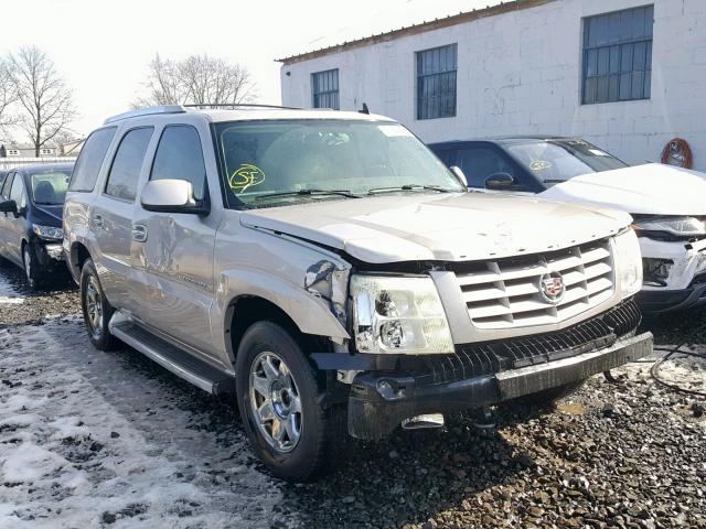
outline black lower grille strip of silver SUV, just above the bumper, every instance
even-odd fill
[[[634,333],[641,319],[638,305],[631,300],[563,331],[460,345],[456,355],[426,357],[424,371],[417,374],[418,380],[421,384],[463,380],[600,349]]]

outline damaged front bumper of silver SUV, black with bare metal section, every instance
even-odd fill
[[[404,419],[495,404],[585,379],[652,353],[652,334],[623,337],[611,346],[545,364],[445,384],[424,385],[399,371],[359,374],[349,397],[349,433],[377,440]]]

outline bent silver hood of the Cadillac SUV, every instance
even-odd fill
[[[624,213],[483,193],[406,194],[250,209],[240,223],[370,263],[466,261],[557,249],[618,233]]]

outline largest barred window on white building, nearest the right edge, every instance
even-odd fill
[[[582,102],[649,99],[654,7],[584,20]]]

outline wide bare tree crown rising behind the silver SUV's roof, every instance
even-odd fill
[[[150,61],[148,95],[133,106],[151,105],[237,105],[255,97],[255,85],[247,69],[208,55],[191,55],[183,61]]]

